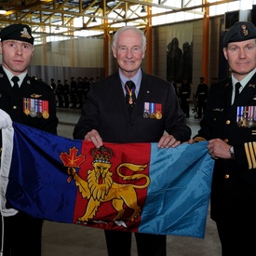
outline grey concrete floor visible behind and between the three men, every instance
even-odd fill
[[[77,122],[79,115],[80,110],[60,109],[58,111],[60,119],[59,135],[72,138],[74,124]],[[199,128],[199,120],[194,118],[193,113],[190,118],[187,118],[187,125],[192,128],[192,135],[194,136]],[[42,256],[107,256],[103,231],[77,224],[45,221],[42,247]],[[136,244],[133,241],[131,256],[136,255]],[[168,236],[168,256],[218,255],[221,255],[220,241],[215,222],[212,222],[209,218],[204,239]]]

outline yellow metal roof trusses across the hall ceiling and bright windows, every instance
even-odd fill
[[[37,30],[37,28],[42,28],[41,32],[46,31],[46,27],[53,31],[57,26],[65,29],[61,34],[73,34],[74,30],[84,29],[111,31],[116,29],[113,26],[118,23],[134,22],[137,26],[145,26],[149,19],[177,12],[192,12],[203,16],[206,7],[236,1],[238,0],[222,0],[216,3],[208,3],[202,0],[201,5],[191,6],[191,0],[182,0],[181,7],[171,7],[168,6],[167,0],[159,0],[158,4],[139,0],[24,0],[21,5],[20,0],[4,0],[0,1],[0,6],[7,9],[7,14],[0,16],[0,28],[5,27],[7,24],[22,22],[32,26],[33,31]],[[132,7],[134,6],[138,7],[133,10]],[[141,16],[141,6],[165,8],[166,12],[148,13],[145,16]],[[115,14],[115,18],[111,17],[113,14]],[[89,18],[89,20],[83,27],[74,28],[74,19],[77,17]],[[92,18],[103,20],[102,24],[91,26],[90,20]],[[108,20],[108,22],[104,20]]]

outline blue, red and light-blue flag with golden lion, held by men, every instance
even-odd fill
[[[214,161],[207,141],[156,143],[66,139],[13,123],[4,128],[1,208],[53,222],[203,238]]]

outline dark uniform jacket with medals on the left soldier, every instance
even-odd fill
[[[0,108],[12,121],[57,134],[58,118],[53,89],[26,75],[19,93],[14,90],[0,68]]]

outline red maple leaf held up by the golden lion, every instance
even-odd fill
[[[77,155],[78,149],[73,147],[69,149],[69,155],[61,153],[60,158],[64,164],[64,167],[79,168],[80,165],[86,161],[85,155]]]

